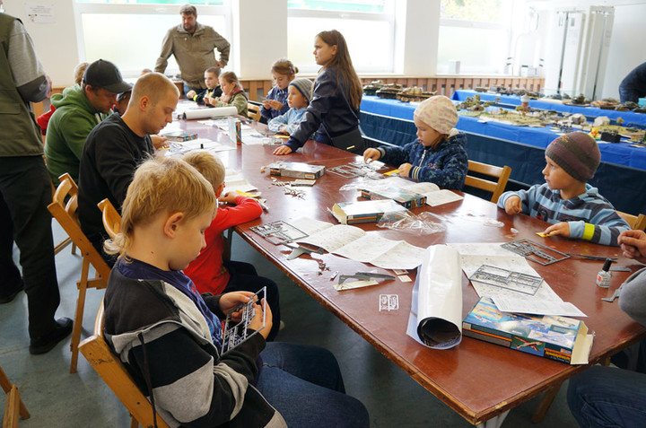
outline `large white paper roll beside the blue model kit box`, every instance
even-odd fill
[[[406,334],[433,349],[462,341],[462,268],[458,251],[432,245],[417,268]]]

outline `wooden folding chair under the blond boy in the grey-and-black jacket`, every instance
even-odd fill
[[[137,388],[135,381],[126,370],[118,355],[114,354],[103,336],[104,324],[103,302],[101,301],[96,322],[94,323],[94,334],[79,346],[81,354],[90,362],[92,368],[99,373],[99,376],[109,389],[126,406],[132,417],[130,427],[137,427],[142,424],[144,427],[153,426],[153,406],[144,394]],[[157,415],[157,426],[168,428],[160,415]]]

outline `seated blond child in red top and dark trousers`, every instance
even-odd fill
[[[256,268],[249,263],[223,260],[223,232],[238,224],[257,219],[262,207],[251,197],[228,192],[223,195],[225,169],[223,162],[212,153],[189,152],[182,158],[211,183],[219,202],[233,204],[218,209],[211,225],[205,231],[206,248],[184,269],[200,293],[222,294],[229,292],[257,293],[266,287],[266,300],[272,310],[274,327],[267,340],[274,340],[280,327],[280,304],[278,285],[269,278],[258,276]]]

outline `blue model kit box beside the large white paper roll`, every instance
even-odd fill
[[[502,312],[481,297],[462,321],[462,334],[570,364],[587,364],[594,334],[579,319]]]

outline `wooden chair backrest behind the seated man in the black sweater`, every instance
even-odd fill
[[[83,258],[87,258],[96,269],[97,274],[107,280],[110,272],[108,264],[101,258],[99,252],[92,246],[92,242],[81,230],[81,224],[78,221],[77,190],[76,183],[69,174],[61,176],[61,184],[54,192],[54,200],[48,205],[48,210],[57,219],[76,247],[81,250]],[[65,200],[67,200],[66,203]]]

